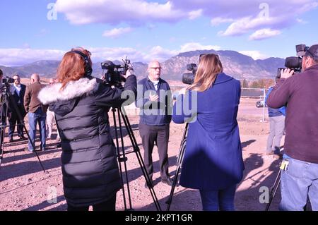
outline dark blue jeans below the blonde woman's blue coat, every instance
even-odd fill
[[[204,211],[235,211],[236,184],[223,190],[200,190]]]

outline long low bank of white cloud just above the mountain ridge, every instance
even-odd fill
[[[92,53],[93,62],[115,61],[125,59],[126,56],[132,62],[148,63],[153,59],[165,61],[181,52],[195,50],[219,50],[220,47],[213,45],[203,45],[196,42],[182,44],[179,49],[164,49],[160,46],[148,47],[144,49],[134,49],[129,47],[84,47]],[[69,50],[59,49],[0,49],[1,66],[23,66],[41,60],[60,61]]]

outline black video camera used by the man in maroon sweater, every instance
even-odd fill
[[[285,67],[290,68],[295,71],[295,73],[300,73],[302,71],[302,57],[305,56],[306,51],[310,47],[307,47],[306,44],[296,45],[297,56],[288,57],[285,60]],[[281,78],[281,70],[285,68],[278,68],[276,78]]]

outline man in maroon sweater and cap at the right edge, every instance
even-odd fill
[[[267,104],[287,104],[281,174],[281,210],[301,211],[307,195],[318,210],[318,44],[302,58],[302,73],[285,69]]]

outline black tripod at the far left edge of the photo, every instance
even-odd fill
[[[20,114],[20,111],[18,110],[18,106],[16,104],[16,102],[13,99],[13,96],[11,95],[11,92],[9,92],[8,88],[10,87],[10,84],[8,83],[4,83],[3,86],[1,87],[1,109],[0,109],[0,113],[1,113],[1,125],[0,125],[0,166],[1,166],[1,162],[2,159],[4,159],[4,136],[6,133],[6,118],[8,117],[8,104],[10,103],[11,107],[13,107],[13,111],[18,115],[18,120],[20,122],[20,124],[23,125],[23,129],[25,130],[25,133],[28,135],[28,140],[30,141],[30,143],[33,146],[33,149],[35,150],[35,143],[31,140],[30,135],[28,133],[27,128],[25,127],[24,121],[23,121],[23,117]],[[45,168],[40,160],[39,155],[37,154],[36,151],[34,151],[37,159],[40,162],[40,165],[42,167],[42,170],[46,173]]]

